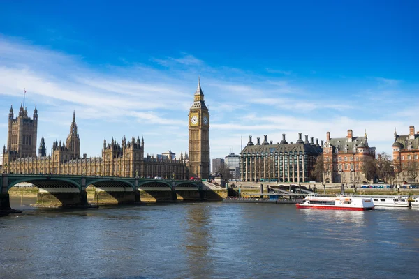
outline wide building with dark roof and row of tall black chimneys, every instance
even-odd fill
[[[311,169],[316,158],[323,152],[322,146],[301,138],[301,133],[295,144],[286,142],[285,134],[282,141],[273,144],[267,142],[267,135],[260,144],[253,144],[251,136],[249,142],[240,153],[240,176],[242,181],[281,181],[281,182],[308,182]],[[322,142],[323,145],[323,142]]]

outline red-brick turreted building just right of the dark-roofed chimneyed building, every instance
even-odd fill
[[[330,137],[326,134],[323,149],[324,182],[366,183],[367,178],[362,171],[368,157],[375,158],[375,147],[369,147],[367,133],[364,137],[354,137],[352,130],[348,130],[346,137]]]

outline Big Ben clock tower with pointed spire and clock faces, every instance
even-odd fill
[[[189,110],[189,174],[207,179],[210,175],[210,112],[204,102],[204,93],[198,88]]]

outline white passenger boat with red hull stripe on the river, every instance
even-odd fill
[[[296,204],[296,206],[297,209],[374,210],[371,198],[353,197],[353,195],[345,194],[336,196],[309,194],[302,203]]]

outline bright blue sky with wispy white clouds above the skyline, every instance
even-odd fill
[[[0,144],[8,111],[38,109],[47,153],[75,111],[81,153],[144,137],[188,151],[200,75],[211,158],[248,136],[325,140],[419,130],[418,1],[1,1]]]

